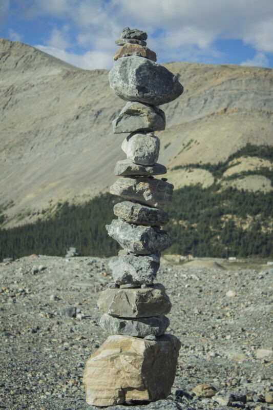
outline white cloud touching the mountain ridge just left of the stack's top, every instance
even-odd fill
[[[85,70],[95,70],[102,68],[111,68],[113,66],[113,57],[109,56],[109,53],[101,51],[88,51],[85,54],[78,55],[73,53],[68,53],[65,50],[58,49],[55,47],[46,46],[34,46],[44,53],[53,55],[60,60],[66,61],[75,67],[79,67]]]

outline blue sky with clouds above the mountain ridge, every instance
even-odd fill
[[[0,37],[84,69],[113,66],[125,26],[159,63],[273,68],[273,0],[0,0]]]

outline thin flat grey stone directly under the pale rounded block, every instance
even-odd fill
[[[134,163],[130,159],[117,161],[114,169],[114,174],[117,176],[163,175],[166,172],[166,167],[160,163],[145,167],[144,165]]]

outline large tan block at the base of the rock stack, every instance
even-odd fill
[[[160,336],[157,341],[109,336],[86,363],[87,403],[111,406],[165,399],[174,382],[179,348],[173,335]]]

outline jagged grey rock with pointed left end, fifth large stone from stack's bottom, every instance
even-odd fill
[[[133,225],[122,219],[113,219],[110,225],[106,225],[106,229],[108,235],[128,253],[149,255],[162,251],[172,243],[169,232],[160,231],[156,227]]]

